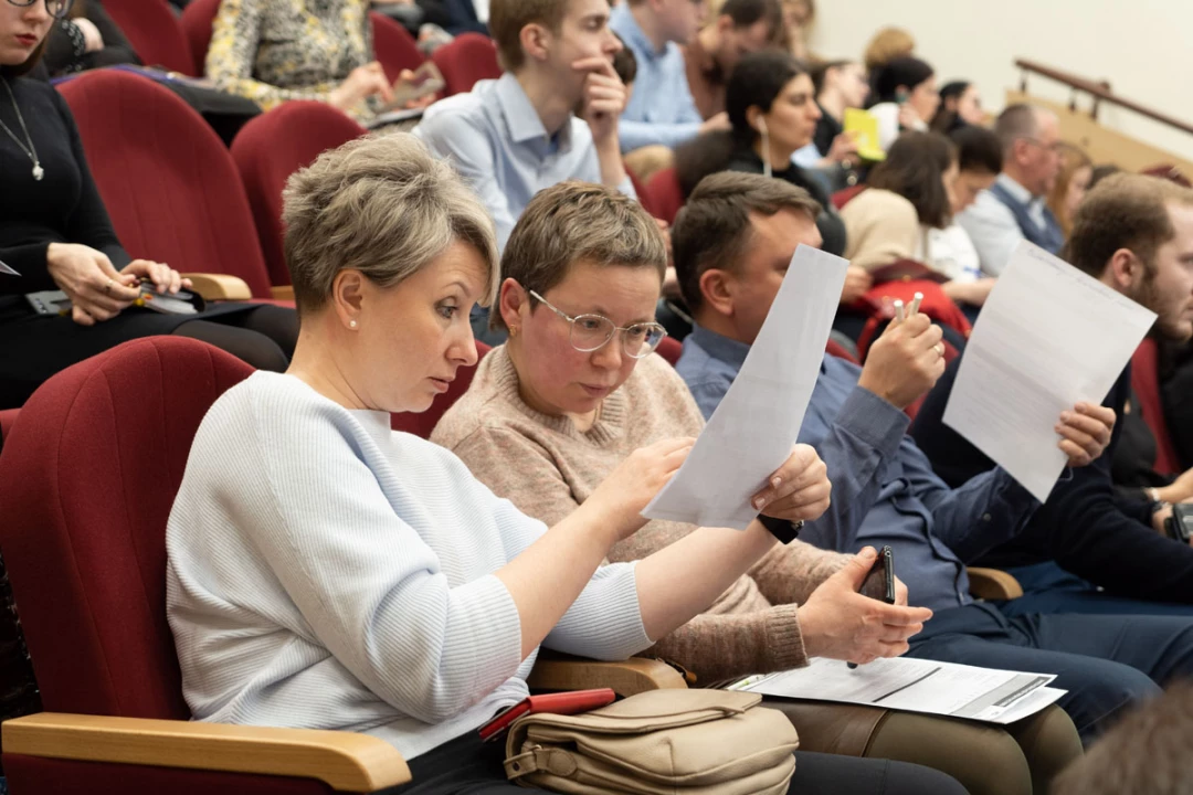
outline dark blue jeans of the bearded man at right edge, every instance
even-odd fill
[[[991,602],[1008,619],[1033,613],[1083,613],[1087,615],[1183,615],[1193,617],[1193,604],[1143,602],[1106,594],[1055,563],[1007,569],[1024,588],[1008,602]]]

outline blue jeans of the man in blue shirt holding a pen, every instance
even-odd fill
[[[1151,615],[1025,615],[991,604],[940,610],[909,657],[1055,673],[1058,702],[1086,745],[1124,709],[1193,675],[1193,619]]]

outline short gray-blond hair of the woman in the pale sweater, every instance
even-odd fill
[[[484,260],[482,303],[496,293],[493,219],[451,166],[413,135],[369,136],[324,151],[290,176],[282,195],[286,263],[299,315],[328,302],[342,269],[392,287],[456,241],[471,244]]]

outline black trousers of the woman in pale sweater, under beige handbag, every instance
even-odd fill
[[[505,741],[481,743],[468,733],[409,762],[409,784],[397,795],[525,795],[506,780]],[[965,788],[942,772],[885,759],[796,752],[790,795],[965,795]]]

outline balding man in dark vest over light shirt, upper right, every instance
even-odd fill
[[[982,272],[991,277],[1006,269],[1021,240],[1052,254],[1064,244],[1061,225],[1044,204],[1061,173],[1056,114],[1031,105],[1012,105],[999,114],[994,131],[1002,141],[1002,173],[957,216],[957,223],[973,241]]]

